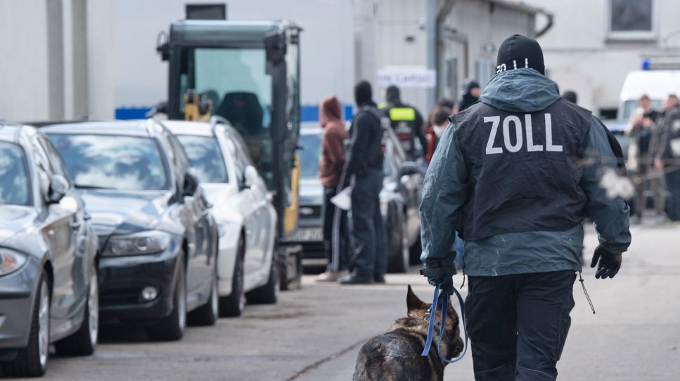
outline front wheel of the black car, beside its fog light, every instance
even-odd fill
[[[179,273],[174,285],[172,312],[155,325],[146,327],[146,335],[151,340],[174,341],[181,339],[182,335],[184,335],[184,329],[186,328],[186,269],[184,268],[184,253],[181,253],[178,262]]]

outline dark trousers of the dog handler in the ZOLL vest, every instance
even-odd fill
[[[466,327],[475,380],[555,380],[574,307],[575,272],[468,279]]]

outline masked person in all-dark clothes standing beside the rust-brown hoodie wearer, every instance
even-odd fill
[[[352,187],[352,272],[340,278],[341,284],[385,283],[387,258],[379,199],[383,187],[383,125],[372,98],[370,83],[360,81],[354,86],[359,109],[352,119],[344,174],[345,183]]]

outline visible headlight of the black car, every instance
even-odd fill
[[[111,236],[103,255],[145,255],[160,253],[170,244],[171,236],[155,230]]]

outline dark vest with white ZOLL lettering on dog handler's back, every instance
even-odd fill
[[[480,102],[452,121],[471,179],[465,239],[563,231],[583,220],[586,195],[579,181],[588,110],[561,99],[537,112]]]

